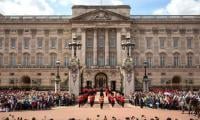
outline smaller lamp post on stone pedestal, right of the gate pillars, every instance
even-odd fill
[[[149,92],[149,84],[148,84],[148,76],[147,76],[147,64],[148,62],[145,60],[144,61],[144,77],[143,77],[143,92]]]

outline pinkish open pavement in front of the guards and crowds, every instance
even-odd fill
[[[193,115],[182,114],[181,111],[175,110],[161,110],[161,109],[151,109],[143,108],[138,106],[132,106],[126,104],[124,108],[116,105],[112,108],[111,105],[105,104],[103,109],[100,109],[99,104],[95,104],[93,108],[86,104],[82,107],[70,106],[70,107],[56,107],[52,110],[42,110],[42,111],[20,111],[20,112],[2,112],[0,113],[0,118],[3,119],[9,115],[14,115],[15,118],[23,117],[31,120],[32,117],[36,117],[37,120],[49,120],[53,118],[54,120],[67,120],[69,118],[76,118],[80,120],[86,120],[86,118],[91,118],[92,120],[103,120],[105,115],[108,120],[111,120],[113,116],[117,119],[124,120],[126,117],[135,116],[141,118],[142,115],[146,116],[147,120],[159,117],[160,120],[166,120],[167,117],[177,118],[178,120],[189,120],[190,118],[197,119]],[[98,117],[99,115],[99,117]]]

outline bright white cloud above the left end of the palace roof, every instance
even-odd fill
[[[54,14],[47,0],[1,0],[0,12],[4,15]]]

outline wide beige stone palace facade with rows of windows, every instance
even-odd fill
[[[130,6],[75,5],[72,15],[0,14],[0,88],[51,88],[60,60],[61,87],[68,86],[74,38],[81,86],[119,90],[126,57],[121,44],[134,43],[135,87],[142,87],[144,60],[150,88],[200,88],[200,16],[131,15]]]

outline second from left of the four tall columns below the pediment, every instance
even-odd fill
[[[97,65],[97,29],[94,29],[93,65]]]

